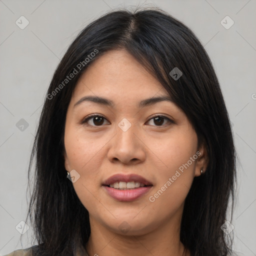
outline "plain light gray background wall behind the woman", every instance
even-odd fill
[[[213,62],[239,158],[234,248],[238,255],[256,255],[255,0],[0,0],[1,255],[31,246],[31,227],[22,235],[21,245],[15,226],[25,220],[30,151],[60,58],[86,24],[110,9],[137,4],[161,7],[183,21]],[[29,21],[24,29],[15,23],[21,23],[21,15]],[[226,15],[234,21],[229,29],[221,24]],[[228,19],[224,22],[231,24]],[[21,118],[28,127],[20,126],[23,121],[16,126]]]

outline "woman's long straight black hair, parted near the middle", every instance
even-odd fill
[[[231,233],[226,235],[221,226],[229,202],[228,220],[232,220],[235,149],[220,86],[211,61],[194,33],[156,7],[118,9],[91,22],[71,43],[54,72],[28,169],[29,179],[35,157],[27,217],[33,224],[39,251],[52,256],[75,255],[88,241],[88,211],[66,178],[65,116],[76,82],[86,67],[106,51],[118,48],[126,49],[160,81],[187,115],[199,143],[205,143],[207,149],[209,161],[205,173],[194,178],[185,199],[181,242],[191,256],[231,253],[233,237]],[[176,80],[169,74],[174,67],[182,71]],[[65,80],[74,70],[74,77]]]

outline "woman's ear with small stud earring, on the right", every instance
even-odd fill
[[[207,147],[204,140],[203,142],[201,142],[201,145],[197,148],[196,155],[198,157],[196,159],[194,176],[200,176],[206,171],[209,161]],[[201,170],[203,171],[202,173]]]

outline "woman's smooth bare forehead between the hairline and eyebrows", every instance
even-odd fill
[[[111,50],[95,59],[79,78],[73,97],[84,94],[134,99],[169,94],[131,54],[124,49]]]

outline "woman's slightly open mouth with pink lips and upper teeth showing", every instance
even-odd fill
[[[118,201],[132,201],[149,191],[152,183],[137,174],[115,174],[102,183],[108,195]]]

